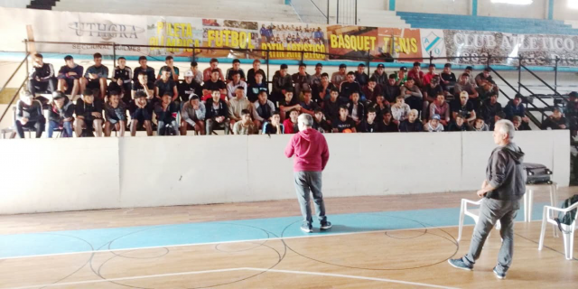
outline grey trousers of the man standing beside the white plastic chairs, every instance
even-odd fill
[[[471,236],[470,251],[466,256],[463,256],[462,261],[471,266],[476,263],[489,232],[499,220],[502,247],[499,248],[496,270],[499,273],[506,273],[509,266],[512,265],[512,257],[514,256],[514,219],[519,209],[519,200],[484,199],[480,205],[480,219]]]

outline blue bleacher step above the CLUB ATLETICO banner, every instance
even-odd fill
[[[492,31],[501,33],[578,35],[560,20],[397,12],[413,28]]]

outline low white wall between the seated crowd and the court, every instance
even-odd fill
[[[0,140],[0,214],[292,199],[290,137]],[[475,190],[494,148],[491,133],[326,138],[326,197]],[[568,185],[568,131],[515,140],[526,162],[545,163]]]

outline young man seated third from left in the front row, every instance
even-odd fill
[[[102,136],[102,103],[95,101],[92,89],[84,90],[82,98],[76,101],[76,121],[74,131],[76,136],[82,136],[82,130],[86,129],[85,136],[94,136],[92,129],[97,132],[97,136]]]

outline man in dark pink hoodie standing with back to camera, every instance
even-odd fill
[[[313,231],[311,205],[309,203],[309,192],[311,191],[317,219],[321,223],[321,229],[326,230],[331,228],[331,222],[327,221],[325,216],[322,171],[329,161],[329,149],[325,137],[317,130],[312,129],[313,118],[311,115],[299,116],[297,125],[299,126],[299,133],[295,134],[287,144],[285,155],[287,157],[295,156],[295,190],[304,219],[301,229],[306,233]]]

